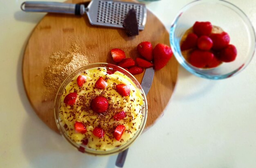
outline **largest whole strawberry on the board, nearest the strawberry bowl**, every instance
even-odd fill
[[[171,47],[164,44],[157,44],[153,49],[155,70],[162,69],[173,56]]]

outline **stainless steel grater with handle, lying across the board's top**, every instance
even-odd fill
[[[20,7],[22,11],[28,12],[54,12],[75,15],[87,13],[92,25],[118,28],[124,28],[124,18],[128,11],[133,8],[136,11],[139,30],[144,29],[147,15],[145,4],[112,0],[92,0],[88,7],[85,7],[84,4],[26,1]]]

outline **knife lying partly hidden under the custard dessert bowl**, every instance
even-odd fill
[[[153,69],[153,67],[151,68],[147,68],[144,76],[142,78],[141,81],[141,87],[144,90],[145,95],[148,94],[150,87],[153,83],[153,79],[154,79],[154,74],[155,74],[155,70]],[[126,160],[126,156],[128,153],[128,149],[124,150],[123,152],[120,152],[117,156],[117,160],[116,160],[116,166],[119,168],[122,168],[124,166],[124,162]]]

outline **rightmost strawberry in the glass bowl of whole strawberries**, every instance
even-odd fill
[[[234,45],[228,45],[226,48],[220,50],[220,60],[229,63],[236,59],[237,50]]]

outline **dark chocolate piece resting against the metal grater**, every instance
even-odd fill
[[[128,36],[139,35],[139,27],[135,9],[132,8],[128,11],[126,18],[124,18],[123,26],[126,29]]]

